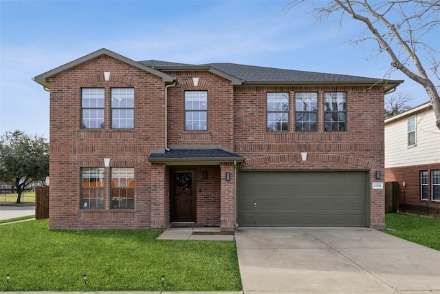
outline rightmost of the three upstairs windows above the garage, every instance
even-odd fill
[[[325,132],[347,131],[347,93],[324,92]]]

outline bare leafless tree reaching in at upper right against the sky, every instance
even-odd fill
[[[310,2],[294,0],[286,6],[285,11],[305,3]],[[364,23],[372,36],[362,35],[351,42],[359,44],[375,39],[377,51],[390,56],[392,67],[425,88],[434,109],[437,128],[440,129],[439,45],[423,41],[424,37],[439,28],[440,0],[333,0],[311,3],[317,21],[325,21],[331,14],[341,13],[341,27],[344,14]]]

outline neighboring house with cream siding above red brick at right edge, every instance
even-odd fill
[[[385,120],[385,180],[399,211],[440,218],[440,130],[430,103]]]

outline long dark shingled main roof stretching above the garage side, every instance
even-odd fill
[[[223,78],[227,78],[233,85],[382,85],[385,92],[388,92],[404,82],[403,80],[283,70],[274,67],[236,63],[191,65],[156,60],[140,61],[140,63],[164,72],[173,70],[208,70]]]

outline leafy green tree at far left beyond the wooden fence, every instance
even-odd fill
[[[0,167],[2,178],[12,179],[20,203],[28,185],[49,175],[49,143],[18,130],[5,132],[0,140]]]

